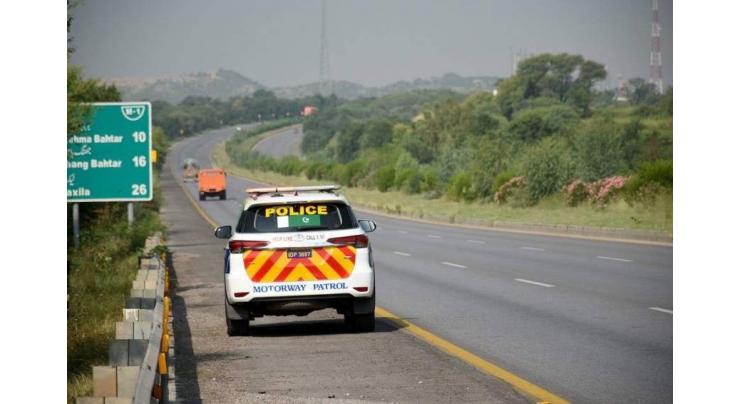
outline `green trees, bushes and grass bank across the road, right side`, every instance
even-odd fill
[[[605,75],[579,55],[539,55],[495,96],[345,102],[305,118],[302,158],[261,156],[243,141],[222,157],[262,179],[363,190],[355,203],[385,211],[670,233],[672,89],[633,79],[618,102],[593,90]]]

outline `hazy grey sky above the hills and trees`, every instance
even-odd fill
[[[673,5],[659,3],[671,83]],[[579,53],[612,80],[647,78],[651,9],[651,0],[327,0],[331,78],[508,76],[520,50]],[[74,17],[72,63],[96,77],[219,67],[268,86],[319,77],[320,0],[85,0]]]

